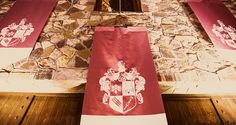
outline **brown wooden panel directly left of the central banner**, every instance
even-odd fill
[[[83,94],[36,96],[23,125],[79,125]]]

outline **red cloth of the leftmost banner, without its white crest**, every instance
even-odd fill
[[[15,36],[13,38],[15,39],[15,43],[12,43],[11,46],[4,46],[3,44],[0,44],[0,48],[33,47],[56,3],[57,0],[17,0],[13,7],[0,21],[0,33],[3,28],[8,27],[12,23],[19,25],[22,19],[26,19],[24,25],[31,23],[34,31],[30,35],[26,36],[24,41]],[[14,34],[16,29],[11,31]],[[1,41],[3,37],[6,39],[6,36],[0,34],[1,43],[3,42]],[[10,39],[10,37],[12,38],[12,36],[9,36],[8,38]]]

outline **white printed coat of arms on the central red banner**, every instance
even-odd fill
[[[119,61],[117,65],[118,71],[109,68],[100,78],[99,84],[100,90],[105,91],[103,104],[125,114],[134,109],[137,104],[144,102],[140,92],[145,89],[145,79],[140,76],[136,68],[128,71],[123,61]]]

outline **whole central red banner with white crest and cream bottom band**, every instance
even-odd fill
[[[166,125],[143,27],[96,27],[81,125]]]

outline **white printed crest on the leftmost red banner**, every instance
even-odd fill
[[[16,25],[16,23],[12,23],[3,28],[0,32],[0,44],[5,47],[10,47],[23,43],[26,37],[34,31],[31,23],[25,23],[26,19],[24,18],[18,25]]]

